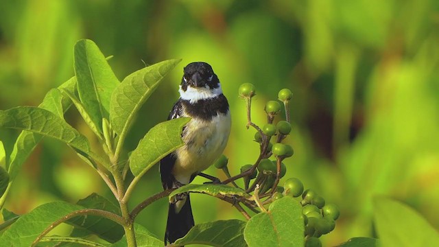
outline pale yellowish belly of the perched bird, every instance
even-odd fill
[[[222,154],[230,134],[230,114],[219,114],[212,121],[191,119],[182,139],[186,145],[176,150],[173,168],[176,180],[188,184],[192,174],[207,169]]]

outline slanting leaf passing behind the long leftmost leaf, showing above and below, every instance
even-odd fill
[[[70,78],[67,82],[64,82],[58,89],[64,89],[69,92],[74,92],[76,86],[75,78]],[[71,102],[69,99],[63,98],[59,99],[56,91],[49,91],[45,98],[43,99],[43,103],[40,104],[41,108],[45,108],[46,110],[51,111],[59,115],[59,109],[62,107],[63,112],[65,113],[67,109],[71,106]],[[60,116],[62,117],[62,115]],[[18,174],[21,166],[26,161],[29,154],[32,153],[36,144],[41,140],[42,136],[39,134],[34,134],[34,132],[30,131],[22,131],[19,134],[19,137],[16,139],[14,148],[10,155],[8,172],[10,176],[10,181],[14,180],[16,174]]]

